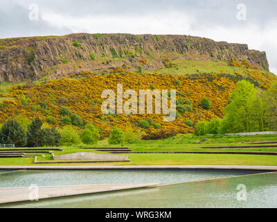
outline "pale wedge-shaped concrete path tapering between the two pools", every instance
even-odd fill
[[[94,194],[99,192],[117,191],[124,189],[137,189],[155,186],[158,184],[126,184],[126,185],[68,185],[51,187],[14,187],[0,188],[0,204],[15,203],[28,200],[40,200],[62,196],[80,194]]]

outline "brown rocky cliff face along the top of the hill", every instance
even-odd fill
[[[73,43],[75,42],[75,44]],[[125,65],[154,70],[170,60],[248,60],[269,71],[265,52],[247,44],[229,44],[188,35],[78,33],[61,37],[18,37],[0,40],[0,83],[60,78],[80,71],[101,72]],[[148,62],[143,62],[144,60]]]

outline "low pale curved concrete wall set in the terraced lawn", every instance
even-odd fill
[[[67,153],[63,155],[53,155],[54,160],[127,160],[127,155],[114,155],[106,153]]]

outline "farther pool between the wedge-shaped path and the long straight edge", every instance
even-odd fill
[[[242,172],[187,170],[25,170],[0,174],[0,187],[187,182]]]

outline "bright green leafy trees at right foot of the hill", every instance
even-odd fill
[[[246,80],[237,83],[224,108],[223,119],[200,121],[196,135],[277,130],[277,82],[262,91]]]

